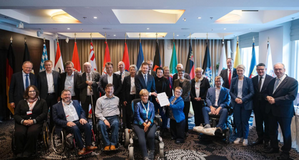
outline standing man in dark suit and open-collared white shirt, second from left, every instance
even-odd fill
[[[50,107],[50,131],[54,127],[52,117],[52,106],[60,100],[59,94],[59,81],[60,73],[52,70],[53,62],[46,60],[44,62],[46,70],[39,72],[37,75],[37,85],[40,91],[40,97],[45,99],[47,106]]]

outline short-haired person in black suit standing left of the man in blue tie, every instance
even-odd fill
[[[136,87],[135,87],[135,76],[137,73],[137,66],[135,64],[130,65],[129,67],[130,75],[126,76],[123,81],[123,105],[125,106],[126,114],[123,115],[124,123],[126,127],[131,129],[131,119],[132,119],[132,100],[136,97]],[[124,118],[125,117],[125,118]]]

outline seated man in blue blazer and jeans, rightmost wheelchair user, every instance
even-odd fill
[[[209,112],[211,114],[220,114],[219,122],[217,124],[216,131],[222,132],[223,126],[227,119],[227,106],[231,101],[231,96],[229,94],[229,89],[222,86],[223,79],[221,76],[215,77],[216,87],[209,88],[207,93],[207,105],[203,107],[203,115],[205,119],[206,126],[204,128],[210,128]]]

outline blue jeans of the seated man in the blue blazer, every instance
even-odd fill
[[[218,106],[213,106],[213,107],[215,107],[216,109],[218,108]],[[210,111],[211,109],[209,106],[203,107],[203,115],[206,124],[210,124],[210,118],[209,118]],[[223,129],[223,125],[227,119],[227,114],[228,114],[227,108],[221,108],[219,114],[220,114],[220,118],[216,127],[220,127],[221,129]]]

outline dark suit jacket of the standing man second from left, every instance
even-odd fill
[[[60,73],[58,71],[52,70],[52,75],[53,75],[53,82],[54,82],[54,90],[57,99],[58,96],[61,95],[61,93],[59,94]],[[38,73],[37,85],[38,85],[38,90],[40,91],[40,97],[42,99],[46,99],[48,93],[48,81],[47,81],[46,70]]]

